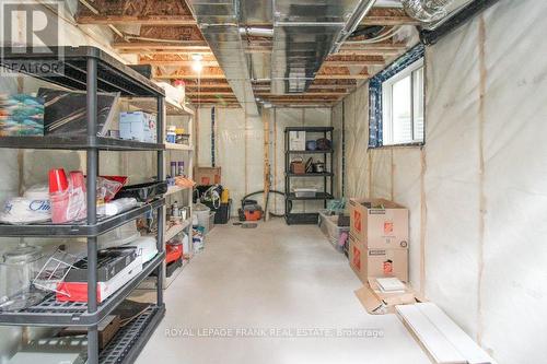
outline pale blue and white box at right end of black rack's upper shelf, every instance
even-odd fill
[[[143,111],[120,113],[119,137],[126,140],[155,143],[158,141],[155,116]]]

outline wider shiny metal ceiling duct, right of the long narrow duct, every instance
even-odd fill
[[[375,0],[276,0],[271,92],[302,93]]]

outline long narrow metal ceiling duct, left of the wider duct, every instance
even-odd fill
[[[237,0],[190,0],[201,33],[247,115],[259,115],[240,33]]]

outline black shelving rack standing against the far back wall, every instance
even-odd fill
[[[288,225],[294,224],[316,224],[318,219],[317,212],[291,212],[292,201],[324,201],[324,207],[326,208],[327,200],[334,199],[333,191],[333,177],[335,176],[333,154],[334,150],[315,150],[315,151],[291,151],[289,142],[290,131],[305,131],[306,136],[309,133],[323,134],[333,141],[333,127],[288,127],[284,129],[284,220]],[[323,155],[325,165],[329,165],[329,171],[325,173],[306,173],[306,174],[293,174],[291,173],[291,156],[292,155]],[[328,161],[328,163],[327,163]],[[291,192],[291,179],[300,177],[317,177],[323,178],[323,191],[317,192],[315,197],[296,197]]]

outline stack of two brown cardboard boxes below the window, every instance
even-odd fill
[[[351,199],[349,213],[349,263],[359,279],[408,282],[408,210],[383,199]]]

